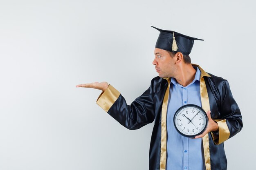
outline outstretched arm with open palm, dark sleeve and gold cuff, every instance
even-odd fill
[[[128,105],[124,97],[107,82],[80,84],[76,87],[95,88],[102,90],[97,104],[121,125],[128,129],[139,129],[155,119],[153,89],[148,88],[141,96]]]

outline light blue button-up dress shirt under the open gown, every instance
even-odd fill
[[[202,138],[183,137],[174,127],[173,116],[178,108],[186,104],[202,107],[200,98],[200,75],[198,67],[195,79],[186,87],[171,78],[167,109],[167,163],[166,170],[204,170]]]

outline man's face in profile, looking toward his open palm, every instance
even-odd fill
[[[155,59],[152,64],[155,65],[155,69],[159,77],[175,77],[177,68],[175,65],[176,57],[171,57],[171,54],[166,50],[155,48]]]

